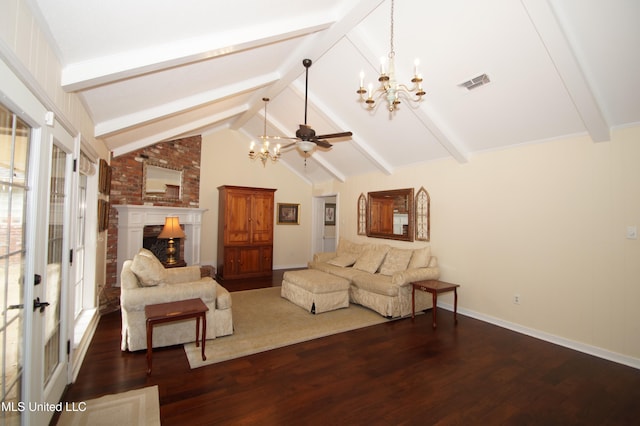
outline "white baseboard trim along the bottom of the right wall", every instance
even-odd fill
[[[438,307],[453,312],[453,305],[449,303],[438,302]],[[525,334],[536,339],[544,340],[549,343],[564,346],[565,348],[573,349],[578,352],[582,352],[588,355],[593,355],[598,358],[613,361],[618,364],[623,364],[629,367],[640,370],[640,359],[612,352],[597,346],[587,345],[585,343],[576,342],[574,340],[565,339],[564,337],[556,336],[554,334],[545,333],[533,328],[524,327],[520,324],[505,321],[500,318],[495,318],[490,315],[485,315],[480,312],[475,312],[469,309],[458,308],[458,313],[465,315],[489,324],[497,325],[498,327],[506,328],[516,333]]]

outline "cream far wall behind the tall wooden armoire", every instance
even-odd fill
[[[278,203],[300,204],[300,225],[276,225],[274,215],[273,267],[306,266],[311,258],[311,186],[282,162],[248,157],[250,140],[240,132],[224,130],[202,136],[200,207],[208,209],[202,220],[203,264],[216,265],[218,241],[218,187],[221,185],[276,188]]]

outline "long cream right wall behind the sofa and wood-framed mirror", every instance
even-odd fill
[[[356,235],[360,193],[424,186],[433,252],[442,278],[462,285],[462,310],[640,368],[640,240],[625,238],[627,225],[640,226],[638,161],[640,128],[632,128],[612,142],[526,145],[332,189],[341,235],[364,240]]]

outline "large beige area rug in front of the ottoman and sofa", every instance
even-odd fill
[[[198,368],[388,320],[359,305],[311,314],[280,296],[280,287],[231,293],[233,334],[207,340],[205,354],[195,343],[184,345],[189,365]]]

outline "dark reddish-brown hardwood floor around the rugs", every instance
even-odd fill
[[[279,285],[281,274],[225,284]],[[181,346],[158,349],[147,376],[144,352],[120,351],[119,313],[107,314],[63,400],[158,385],[163,425],[640,421],[640,370],[458,319],[439,311],[433,330],[427,312],[195,370]]]

